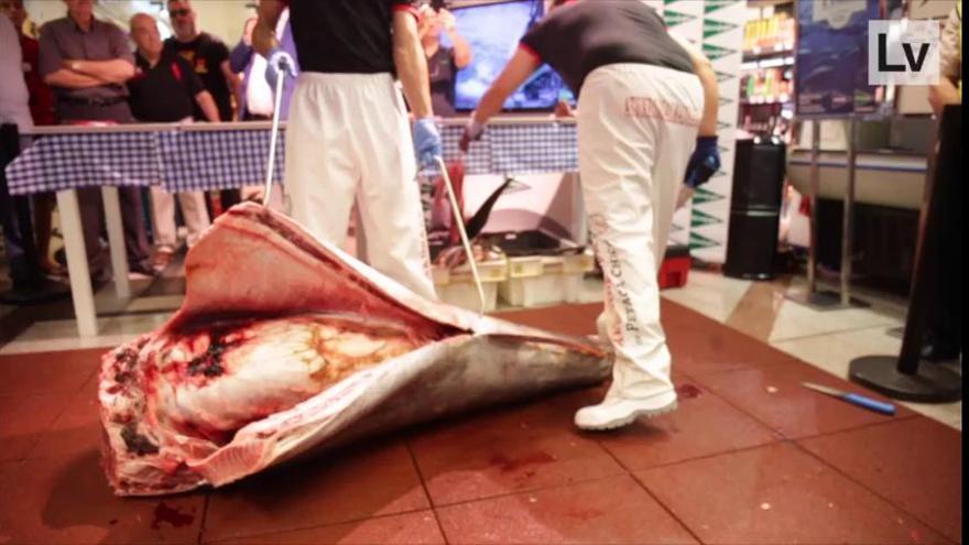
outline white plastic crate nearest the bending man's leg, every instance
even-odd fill
[[[583,280],[595,268],[590,250],[576,255],[509,258],[508,280],[498,293],[505,303],[523,307],[578,303]]]

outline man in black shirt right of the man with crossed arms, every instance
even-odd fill
[[[134,77],[128,80],[134,117],[139,121],[162,123],[190,120],[193,110],[198,107],[206,119],[218,122],[219,110],[192,65],[163,50],[157,22],[146,13],[138,13],[131,18],[130,26],[131,39],[138,46]],[[159,186],[152,186],[151,192],[155,236],[152,266],[160,271],[167,266],[175,252],[175,199]],[[178,203],[192,247],[209,226],[205,197],[200,192],[179,193]]]

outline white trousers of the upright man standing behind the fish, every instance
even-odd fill
[[[286,127],[287,214],[342,244],[355,198],[371,266],[435,299],[411,123],[389,74],[303,73]]]

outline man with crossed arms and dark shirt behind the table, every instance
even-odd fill
[[[130,123],[127,81],[134,61],[124,32],[94,17],[94,0],[65,0],[67,14],[41,28],[40,73],[54,91],[57,118],[64,124],[89,121]],[[141,216],[141,189],[119,187],[124,248],[132,272],[152,274],[148,235]],[[107,255],[101,248],[104,228],[98,188],[78,189],[91,276],[102,277]]]

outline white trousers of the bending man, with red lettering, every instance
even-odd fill
[[[668,68],[608,65],[583,85],[579,173],[605,274],[600,333],[616,355],[609,396],[673,388],[656,275],[703,109],[699,79]]]

